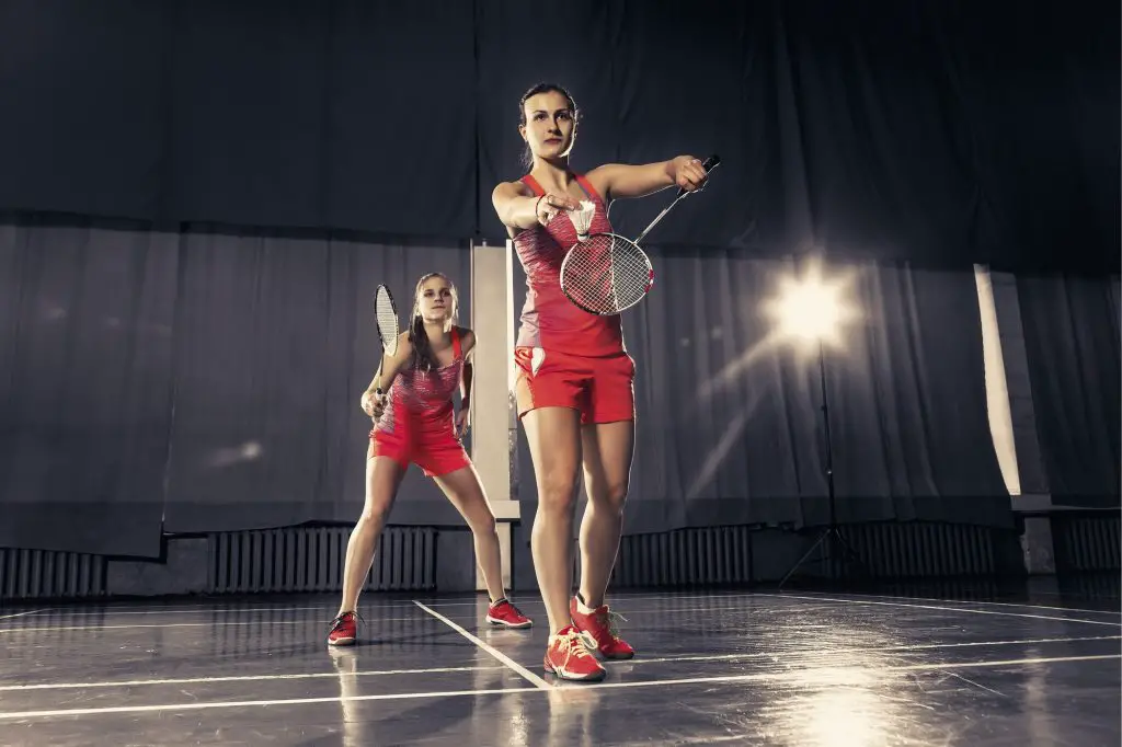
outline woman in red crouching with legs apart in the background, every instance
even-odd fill
[[[402,333],[397,352],[381,371],[386,396],[378,400],[375,381],[362,393],[362,411],[375,421],[366,460],[366,506],[347,544],[342,603],[328,634],[332,646],[351,645],[358,637],[358,596],[411,462],[436,481],[471,527],[476,557],[491,599],[487,621],[508,628],[532,625],[504,593],[495,516],[460,443],[468,428],[471,394],[468,356],[476,335],[453,324],[457,305],[456,286],[447,277],[440,273],[422,277],[414,295],[410,329]],[[457,387],[462,404],[460,413],[453,415],[452,395]]]

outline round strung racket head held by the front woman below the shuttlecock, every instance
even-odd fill
[[[646,297],[654,267],[637,243],[616,233],[594,233],[565,252],[561,290],[578,308],[615,316]]]

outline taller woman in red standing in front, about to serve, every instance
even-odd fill
[[[604,667],[586,645],[605,658],[634,656],[619,638],[604,596],[619,547],[635,442],[635,362],[624,348],[618,316],[588,314],[561,292],[561,260],[577,242],[568,212],[590,200],[596,208],[591,231],[610,231],[613,200],[675,185],[693,191],[705,184],[706,173],[697,158],[679,156],[577,174],[569,168],[578,123],[569,92],[552,83],[535,85],[518,110],[530,173],[499,184],[491,201],[527,279],[514,351],[515,394],[537,482],[531,544],[550,621],[544,667],[562,679],[600,680]],[[581,467],[589,500],[580,524],[580,587],[570,598],[570,537]]]

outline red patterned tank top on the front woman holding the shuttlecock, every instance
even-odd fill
[[[607,208],[582,175],[577,183],[596,204],[592,233],[610,232]],[[530,174],[522,177],[536,195],[545,191]],[[526,303],[522,307],[518,347],[563,350],[603,358],[624,351],[624,333],[619,316],[597,316],[581,311],[561,290],[561,261],[577,243],[577,229],[569,215],[560,212],[546,227],[525,229],[514,238],[518,261],[526,273]]]

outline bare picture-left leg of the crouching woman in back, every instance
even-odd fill
[[[362,581],[370,572],[378,537],[381,536],[386,517],[394,506],[394,498],[402,478],[405,477],[405,469],[389,457],[373,457],[366,460],[366,505],[347,543],[343,596],[339,605],[339,615],[352,612],[358,606]]]

